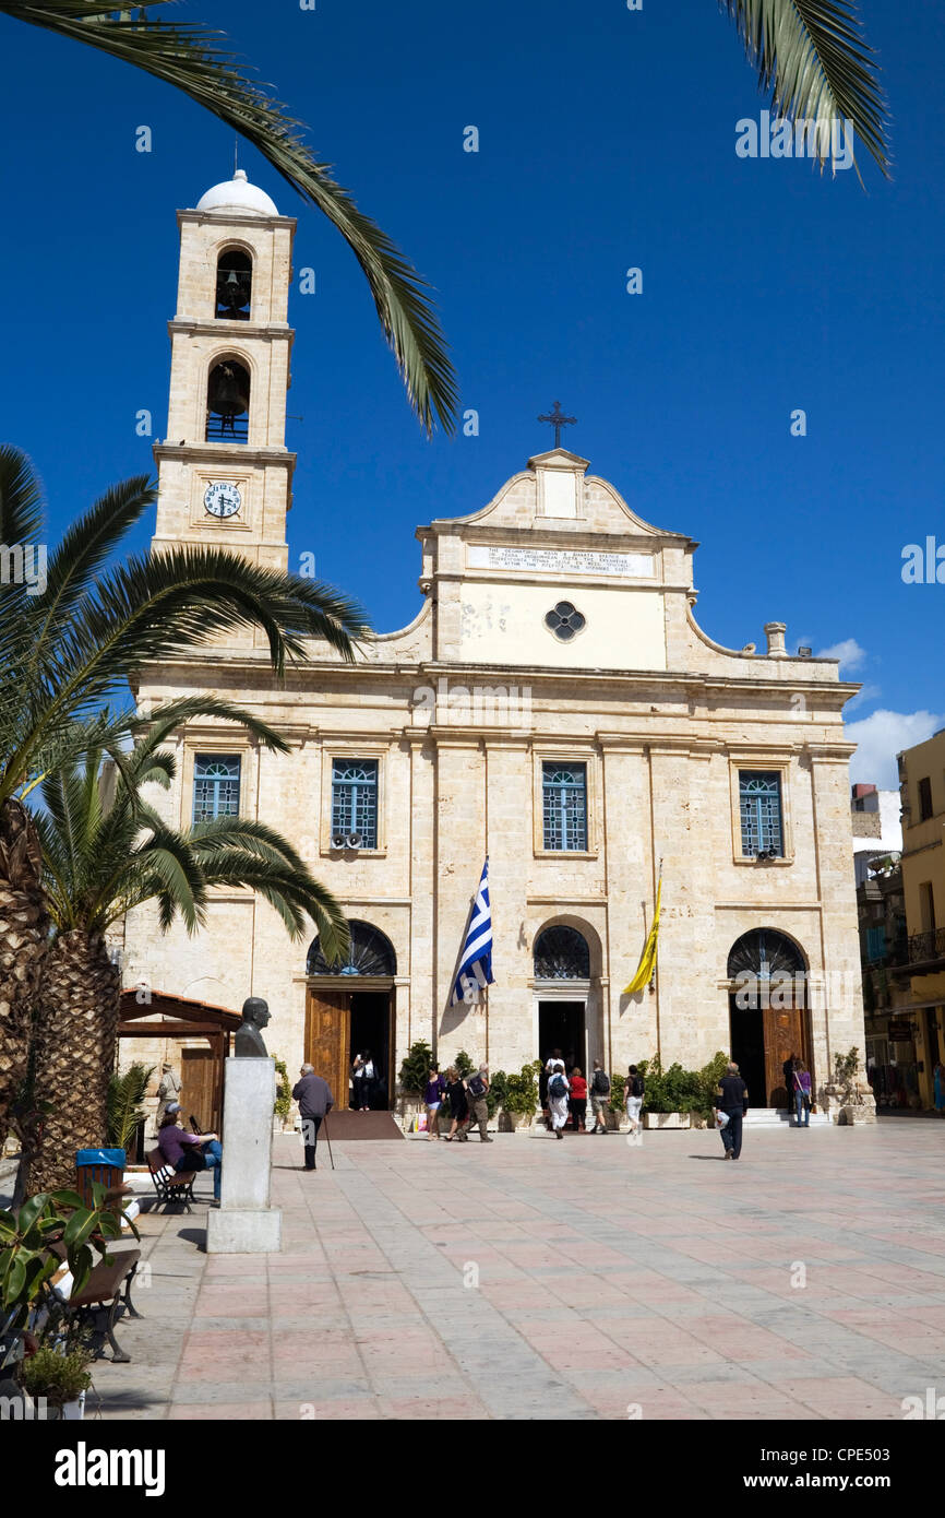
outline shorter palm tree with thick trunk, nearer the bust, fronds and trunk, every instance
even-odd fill
[[[226,817],[177,830],[143,795],[146,786],[168,788],[174,779],[176,761],[161,744],[208,715],[241,720],[270,748],[285,748],[247,713],[190,697],[155,713],[147,736],[115,765],[114,785],[103,785],[100,750],[42,782],[44,809],[35,823],[53,938],[35,1023],[33,1101],[46,1116],[38,1154],[24,1145],[29,1192],[70,1186],[74,1151],[105,1138],[121,1003],[106,932],[126,912],[156,902],[162,931],[179,915],[196,932],[206,921],[211,887],[249,887],[276,909],[291,938],[311,918],[322,941],[335,952],[347,947],[341,908],[272,827]]]

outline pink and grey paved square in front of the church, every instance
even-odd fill
[[[141,1219],[106,1418],[903,1418],[945,1392],[945,1123],[275,1143],[284,1252]],[[205,1179],[202,1178],[202,1183]],[[93,1398],[94,1404],[94,1398]]]

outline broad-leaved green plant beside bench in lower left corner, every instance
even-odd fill
[[[47,1295],[49,1280],[59,1269],[50,1246],[65,1246],[73,1274],[73,1295],[80,1292],[94,1264],[94,1254],[105,1257],[109,1239],[121,1236],[115,1216],[117,1202],[108,1204],[108,1189],[93,1186],[91,1208],[77,1192],[39,1192],[17,1211],[0,1211],[0,1310],[5,1331],[21,1330],[30,1310]],[[130,1224],[138,1237],[138,1230]]]

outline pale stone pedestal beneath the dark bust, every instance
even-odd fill
[[[208,1254],[275,1254],[282,1213],[268,1205],[273,1152],[275,1060],[226,1060],[223,1186],[206,1216]]]

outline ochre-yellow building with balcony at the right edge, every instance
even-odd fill
[[[909,1043],[921,1105],[931,1108],[934,1067],[945,1061],[945,729],[898,762],[907,944],[895,975],[910,993]]]

